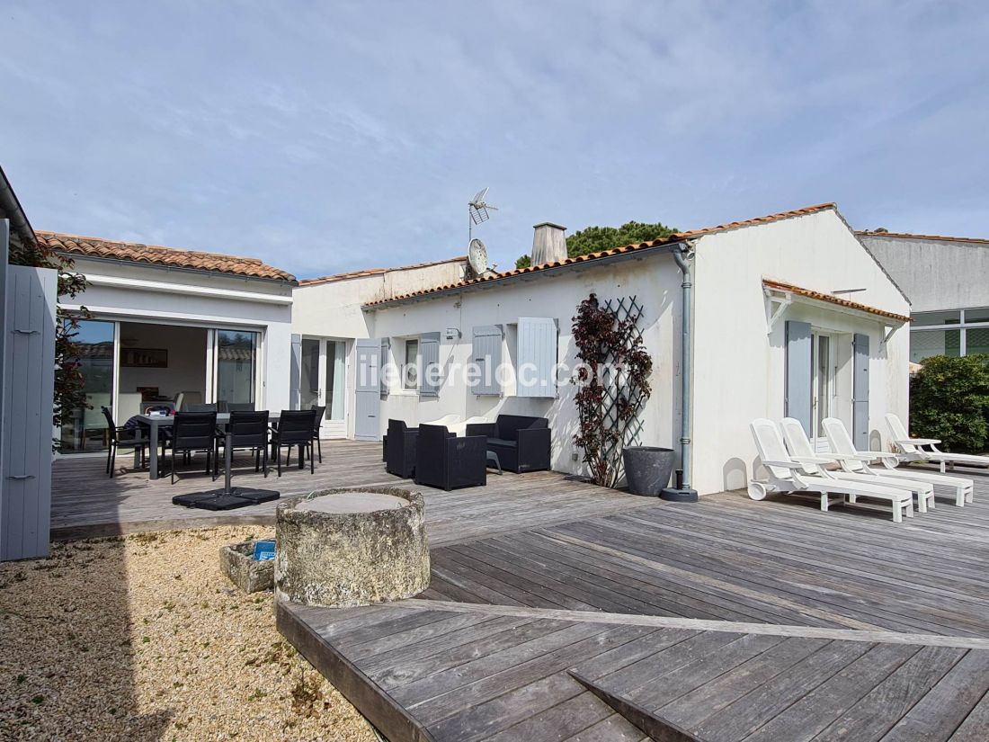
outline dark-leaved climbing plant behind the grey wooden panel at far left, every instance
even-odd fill
[[[86,289],[86,277],[75,272],[75,263],[41,241],[11,249],[10,262],[12,265],[53,268],[58,271],[59,299],[74,299]],[[55,386],[51,415],[51,421],[56,427],[67,421],[74,410],[87,407],[84,380],[78,361],[79,346],[73,339],[78,334],[79,321],[87,317],[89,313],[85,308],[79,313],[59,309],[56,314]]]

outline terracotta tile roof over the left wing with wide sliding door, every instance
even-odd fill
[[[84,237],[78,234],[44,232],[36,230],[38,239],[48,247],[69,255],[127,260],[134,263],[164,265],[174,268],[216,271],[251,278],[272,278],[294,283],[295,276],[284,270],[261,262],[256,257],[237,257],[222,252],[201,252],[162,247],[157,244],[122,242],[101,237]]]

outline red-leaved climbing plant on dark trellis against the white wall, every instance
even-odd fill
[[[621,319],[591,294],[577,308],[573,325],[577,357],[580,431],[574,444],[584,450],[591,479],[615,487],[622,475],[621,452],[629,425],[652,394],[653,359],[642,344],[635,319]]]

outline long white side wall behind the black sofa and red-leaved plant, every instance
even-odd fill
[[[573,366],[575,348],[571,325],[578,305],[591,292],[602,301],[637,295],[643,304],[644,340],[653,355],[654,367],[653,396],[643,416],[642,442],[674,447],[680,322],[674,303],[678,299],[679,277],[669,254],[654,253],[641,260],[568,269],[556,275],[537,273],[525,282],[380,308],[370,313],[369,332],[375,337],[399,338],[458,328],[462,333],[459,340],[441,336],[440,362],[447,366],[452,363],[464,366],[471,361],[475,326],[517,323],[519,317],[553,318],[560,328],[558,357]],[[396,340],[393,340],[393,351],[401,352],[401,343]],[[502,360],[507,358],[507,352],[503,347]],[[490,419],[499,413],[548,417],[553,429],[553,468],[574,473],[583,470],[583,465],[573,458],[578,453],[572,443],[572,436],[577,431],[574,391],[572,385],[565,384],[559,387],[556,399],[478,397],[457,378],[453,382],[447,381],[437,398],[393,392],[382,402],[379,418],[384,431],[390,417],[405,419],[409,424],[448,414]]]

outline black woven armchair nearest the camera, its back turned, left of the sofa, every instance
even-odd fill
[[[389,441],[389,449],[394,441]],[[453,490],[488,484],[488,438],[458,438],[445,425],[419,425],[415,441],[415,484]]]

